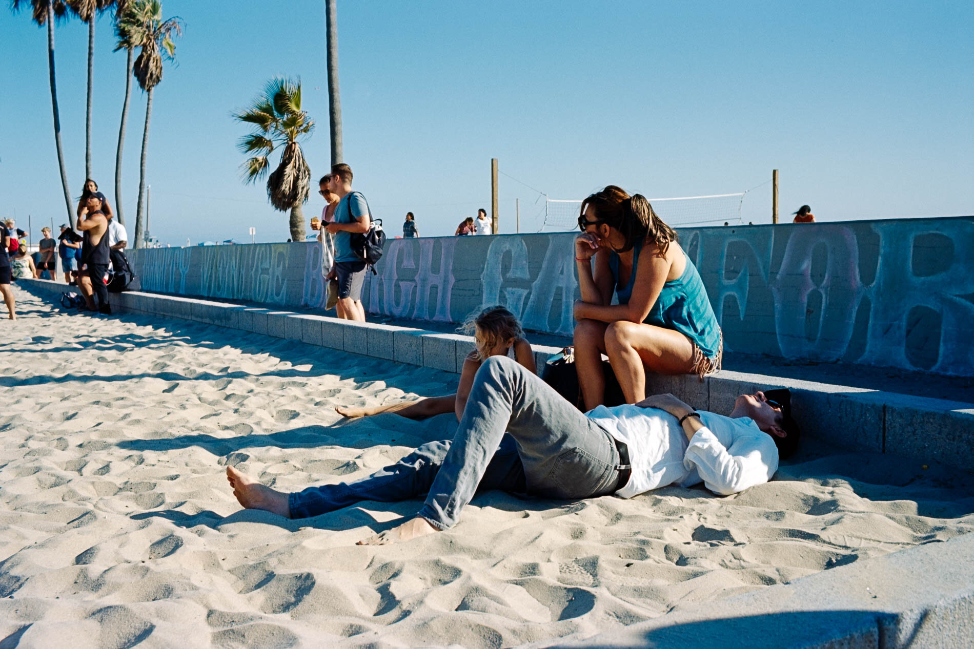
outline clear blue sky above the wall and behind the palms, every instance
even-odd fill
[[[7,5],[8,3],[4,3]],[[148,183],[164,242],[284,240],[287,217],[245,186],[244,107],[275,75],[300,76],[329,162],[323,0],[165,0],[178,66],[156,90]],[[263,11],[261,11],[263,10]],[[379,2],[339,0],[345,160],[398,233],[452,234],[490,209],[503,232],[541,226],[543,198],[606,184],[648,197],[742,192],[744,219],[809,203],[823,221],[974,213],[974,3]],[[97,23],[94,176],[114,198],[125,54]],[[57,92],[73,196],[84,180],[87,28],[56,28]],[[46,30],[0,9],[0,216],[66,219]],[[145,97],[135,90],[123,196],[135,218]],[[318,213],[312,194],[306,216]]]

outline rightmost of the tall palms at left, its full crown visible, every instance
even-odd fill
[[[132,74],[146,93],[145,127],[142,131],[142,159],[138,177],[138,207],[135,209],[135,247],[141,248],[145,229],[145,159],[149,148],[149,120],[152,117],[152,93],[163,80],[163,60],[173,60],[176,45],[173,38],[182,34],[181,18],[163,20],[163,5],[159,0],[131,0],[120,22],[125,23],[127,38],[132,47],[139,48],[132,64]]]

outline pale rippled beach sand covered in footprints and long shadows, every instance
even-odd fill
[[[730,497],[492,491],[451,530],[358,547],[419,501],[287,521],[242,510],[224,467],[282,490],[367,475],[456,419],[334,407],[457,375],[17,297],[0,325],[3,646],[553,642],[974,530],[970,475],[809,443]]]

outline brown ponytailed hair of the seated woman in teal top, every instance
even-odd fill
[[[581,201],[580,223],[585,209],[592,211],[601,223],[615,228],[625,239],[616,252],[632,250],[637,241],[656,244],[660,255],[665,255],[671,241],[677,241],[676,231],[666,225],[653,205],[641,194],[629,196],[621,187],[609,185]]]

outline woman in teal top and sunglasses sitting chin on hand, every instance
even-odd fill
[[[702,379],[719,370],[723,338],[706,289],[650,202],[610,185],[581,202],[579,228],[575,362],[585,409],[605,395],[602,353],[630,404],[646,398],[647,372]]]

